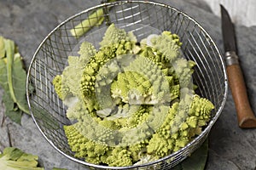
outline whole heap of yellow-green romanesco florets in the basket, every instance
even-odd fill
[[[63,128],[74,156],[113,167],[155,161],[189,144],[210,121],[214,105],[195,94],[195,62],[179,57],[179,37],[149,37],[136,43],[112,24],[99,49],[82,42],[79,56],[69,56],[54,78],[73,122]]]

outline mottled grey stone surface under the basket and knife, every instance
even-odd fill
[[[158,2],[170,4],[194,17],[223,52],[220,19],[212,14],[205,3],[201,3],[200,0]],[[33,53],[49,31],[72,14],[99,3],[99,0],[2,0],[0,35],[15,40],[27,68]],[[241,68],[244,71],[253,111],[256,112],[256,27],[236,25],[236,32]],[[3,91],[0,90],[0,99],[2,95]],[[2,104],[0,108],[0,150],[12,144],[21,150],[36,154],[45,169],[84,169],[83,166],[55,151],[39,133],[31,117],[24,115],[21,126],[9,121],[8,118],[3,122]],[[256,129],[241,129],[237,126],[235,105],[230,93],[224,111],[209,135],[206,169],[256,169]]]

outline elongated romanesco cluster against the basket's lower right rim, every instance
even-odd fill
[[[202,101],[204,104],[201,103]],[[148,154],[162,157],[183,148],[189,144],[195,134],[201,133],[201,127],[209,121],[211,111],[214,108],[209,100],[200,98],[195,94],[183,99],[182,102],[185,103],[172,105],[165,122],[149,140]],[[201,122],[199,123],[199,121]],[[167,147],[169,148],[167,149]]]

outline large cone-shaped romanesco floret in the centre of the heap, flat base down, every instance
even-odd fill
[[[134,105],[170,101],[172,77],[166,76],[160,65],[142,56],[131,61],[124,71],[111,85],[113,99]]]

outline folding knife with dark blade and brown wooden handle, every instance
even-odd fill
[[[256,117],[249,104],[247,88],[242,76],[236,49],[235,29],[230,15],[224,6],[220,5],[222,19],[222,34],[224,40],[225,64],[231,93],[236,105],[238,125],[241,128],[256,127]]]

